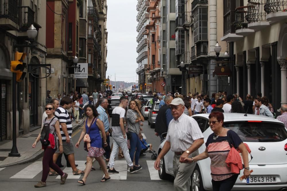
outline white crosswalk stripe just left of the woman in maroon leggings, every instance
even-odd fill
[[[10,178],[34,178],[42,171],[42,161],[36,161]]]

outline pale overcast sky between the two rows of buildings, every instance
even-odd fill
[[[137,68],[137,0],[108,0],[108,69],[110,80],[135,82]],[[129,78],[131,77],[131,78]]]

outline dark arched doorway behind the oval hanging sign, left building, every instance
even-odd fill
[[[40,64],[37,57],[32,57],[30,64]],[[39,78],[40,68],[35,68],[29,73],[29,110],[30,127],[38,125],[38,97],[39,97]]]

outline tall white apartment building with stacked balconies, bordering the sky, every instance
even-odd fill
[[[144,35],[147,31],[146,25],[150,23],[150,15],[147,12],[147,7],[150,6],[150,2],[147,0],[137,1],[137,69],[136,73],[139,75],[139,87],[141,92],[146,92],[145,84],[148,83],[148,38]]]

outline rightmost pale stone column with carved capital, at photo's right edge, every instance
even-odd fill
[[[287,59],[278,59],[281,68],[281,105],[287,103]]]

